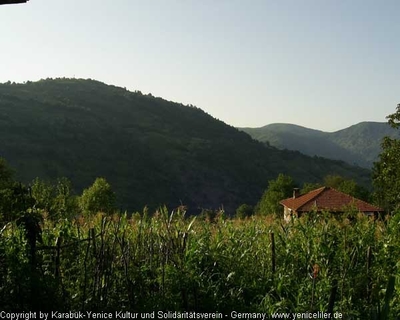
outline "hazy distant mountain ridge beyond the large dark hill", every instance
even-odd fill
[[[279,149],[296,150],[309,156],[342,160],[372,168],[381,152],[383,137],[400,138],[386,122],[365,121],[335,132],[274,123],[261,128],[239,128],[254,139]]]

